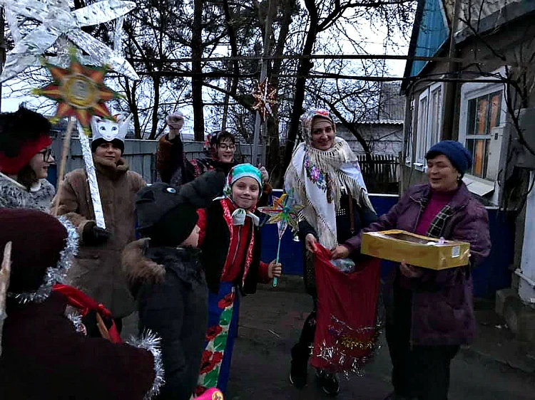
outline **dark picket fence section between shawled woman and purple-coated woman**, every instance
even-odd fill
[[[397,194],[399,160],[392,154],[357,154],[360,169],[370,193]]]

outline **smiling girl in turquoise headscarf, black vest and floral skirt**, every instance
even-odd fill
[[[230,170],[223,196],[199,210],[199,245],[208,289],[208,331],[196,394],[212,387],[225,391],[238,329],[240,293],[279,277],[282,266],[260,260],[260,221],[256,205],[263,178],[251,164]]]

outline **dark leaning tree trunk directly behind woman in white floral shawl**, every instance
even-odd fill
[[[310,56],[314,48],[314,43],[317,36],[317,9],[314,0],[305,0],[308,14],[310,15],[310,26],[305,40],[305,46],[302,50],[302,56]],[[299,119],[304,112],[302,103],[305,101],[305,83],[310,69],[314,64],[309,58],[301,58],[299,66],[297,67],[297,79],[295,80],[295,94],[292,106],[292,117],[290,119],[290,129],[288,130],[288,137],[286,141],[286,149],[284,155],[284,162],[282,169],[286,169],[290,165],[292,159],[292,152],[295,146],[295,139],[297,137],[297,130],[299,130]]]

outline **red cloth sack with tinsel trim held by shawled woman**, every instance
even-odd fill
[[[354,273],[343,273],[330,263],[330,251],[318,245],[314,266],[318,301],[311,364],[360,374],[379,336],[379,260],[364,260]]]

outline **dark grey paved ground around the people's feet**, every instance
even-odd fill
[[[282,290],[281,290],[282,289]],[[243,298],[239,337],[235,345],[228,388],[229,400],[327,399],[315,385],[297,390],[288,381],[290,349],[307,313],[310,298],[292,288],[272,290],[263,286]],[[384,337],[365,377],[342,378],[340,400],[381,400],[392,390],[390,362]],[[452,362],[450,400],[535,400],[535,375],[481,357],[459,352]]]

